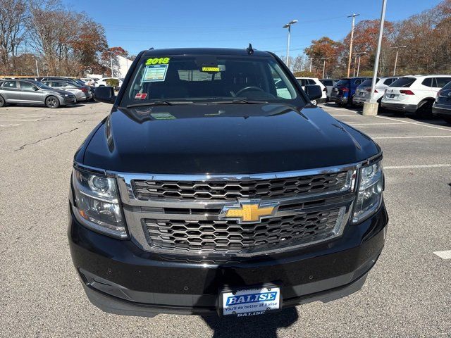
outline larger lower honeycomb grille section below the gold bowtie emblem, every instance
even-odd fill
[[[204,253],[259,253],[333,237],[345,207],[268,218],[261,223],[234,220],[143,219],[149,244],[156,249]]]

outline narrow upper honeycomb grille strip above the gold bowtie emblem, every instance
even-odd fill
[[[350,172],[321,173],[272,180],[245,181],[169,181],[132,180],[137,199],[183,199],[236,201],[236,199],[267,199],[306,194],[340,192],[349,188]]]

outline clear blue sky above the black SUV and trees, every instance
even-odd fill
[[[438,4],[439,0],[388,0],[387,20],[402,20]],[[349,32],[347,15],[380,18],[382,0],[293,1],[120,1],[63,0],[104,25],[110,46],[130,54],[142,49],[171,47],[245,48],[285,54],[292,19],[290,55],[301,54],[312,39],[342,39]]]

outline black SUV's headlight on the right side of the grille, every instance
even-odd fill
[[[359,192],[354,206],[352,223],[359,223],[375,213],[382,202],[382,161],[360,169]]]

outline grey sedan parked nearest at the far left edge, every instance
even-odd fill
[[[33,80],[5,80],[0,82],[0,107],[5,104],[44,104],[58,108],[75,104],[75,96],[70,92],[47,87]]]

